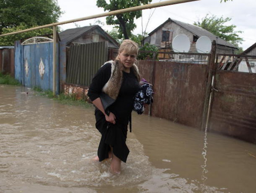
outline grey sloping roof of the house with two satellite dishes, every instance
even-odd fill
[[[185,28],[186,30],[190,31],[191,33],[193,33],[194,35],[196,35],[198,37],[208,36],[211,39],[211,41],[217,39],[216,43],[219,44],[219,45],[228,46],[228,47],[236,48],[237,49],[237,47],[235,45],[225,41],[224,39],[221,39],[218,36],[215,36],[211,32],[209,32],[209,31],[207,31],[207,30],[205,30],[205,29],[203,29],[203,28],[201,28],[199,26],[195,26],[195,25],[188,24],[188,23],[183,23],[181,21],[173,20],[173,19],[170,19],[170,18],[168,18],[164,23],[162,23],[160,26],[158,26],[155,30],[150,32],[148,35],[150,36],[152,33],[154,33],[159,28],[161,28],[165,23],[171,22],[171,21],[176,23],[176,24],[178,24],[179,26]]]

